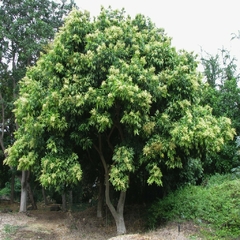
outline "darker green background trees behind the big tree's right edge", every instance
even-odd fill
[[[204,91],[204,104],[212,106],[213,115],[230,118],[239,136],[240,89],[236,59],[228,50],[221,49],[215,56],[203,53],[202,65],[204,77],[209,84]],[[205,169],[208,169],[208,173],[228,173],[232,168],[239,166],[240,159],[236,154],[235,140],[225,144],[218,154],[207,156],[208,166]]]

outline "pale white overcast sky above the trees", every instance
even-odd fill
[[[226,48],[240,61],[240,40],[231,40],[240,30],[239,0],[75,0],[80,10],[97,16],[101,6],[126,10],[134,17],[141,13],[172,38],[177,49],[201,49],[216,54]]]

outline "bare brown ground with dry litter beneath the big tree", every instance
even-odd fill
[[[50,206],[39,205],[27,214],[18,212],[18,204],[0,204],[0,239],[23,240],[185,240],[200,239],[193,223],[169,223],[155,231],[144,230],[142,206],[126,207],[128,235],[116,236],[116,228],[108,211],[102,219],[96,217],[96,208],[84,211],[50,211]],[[11,212],[12,211],[12,212]],[[179,229],[180,228],[180,229]],[[180,230],[180,231],[179,231]]]

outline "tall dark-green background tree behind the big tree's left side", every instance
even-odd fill
[[[0,3],[0,144],[3,152],[5,146],[12,143],[17,128],[12,103],[17,97],[18,81],[25,75],[27,66],[35,64],[40,50],[54,37],[64,15],[73,6],[72,0],[70,3],[49,0],[3,0]],[[27,176],[28,173],[22,174],[23,186],[28,185]],[[14,175],[12,179],[14,182]],[[20,211],[26,211],[26,194],[27,189],[23,188],[24,202]],[[13,200],[13,196],[11,198]]]

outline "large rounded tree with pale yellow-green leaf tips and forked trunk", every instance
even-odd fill
[[[117,233],[126,233],[124,203],[137,169],[146,167],[148,184],[161,185],[162,166],[182,167],[185,156],[218,151],[233,138],[229,119],[199,105],[196,67],[193,54],[177,52],[142,15],[102,8],[91,21],[73,11],[20,82],[20,127],[6,163],[38,166],[41,184],[59,189],[81,179],[88,151],[103,167]]]

